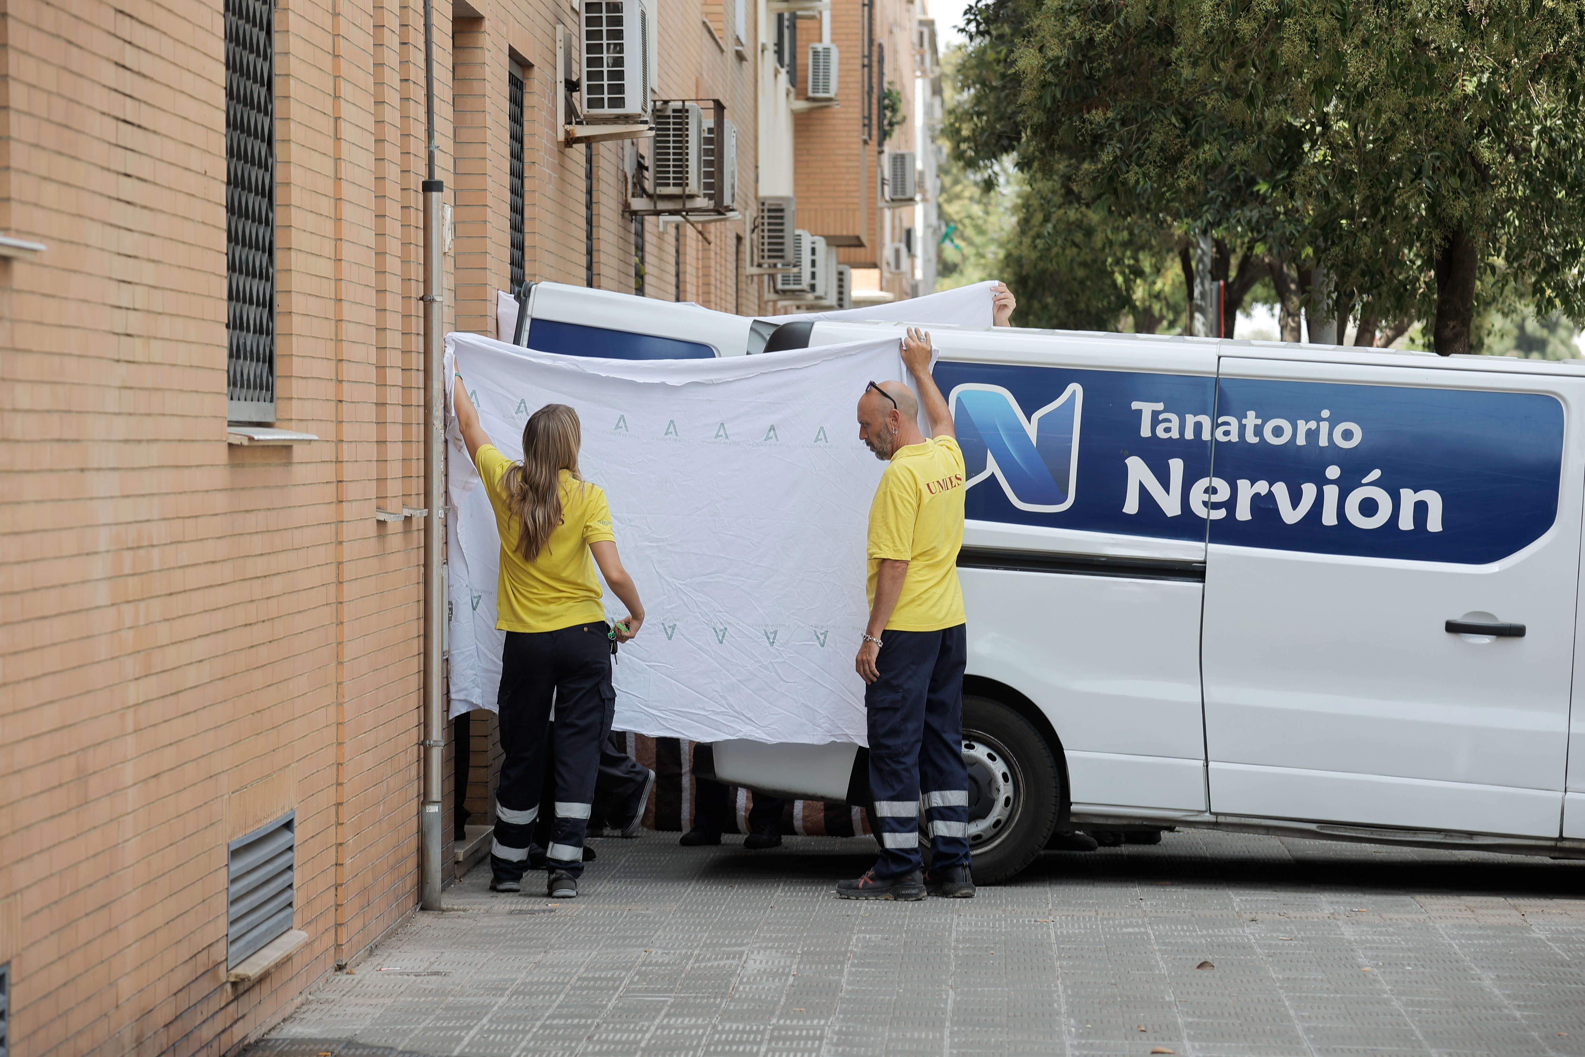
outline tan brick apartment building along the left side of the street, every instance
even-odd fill
[[[832,21],[861,3],[905,84],[911,6],[837,0]],[[756,192],[797,157],[815,195],[810,149],[835,147],[812,122],[861,117],[857,93],[794,117],[781,6],[661,0],[653,93],[720,100],[742,174],[735,208],[678,223],[626,211],[650,141],[564,135],[579,8],[434,0],[445,325],[493,333],[525,279],[767,311]],[[0,5],[13,1057],[233,1051],[415,910],[423,13]],[[857,51],[842,62],[857,86]],[[862,187],[818,209],[857,211],[842,252],[873,266],[891,235],[853,122],[840,179]],[[487,716],[464,748],[477,822],[491,743]]]

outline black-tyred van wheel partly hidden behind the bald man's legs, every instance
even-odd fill
[[[1057,761],[1029,719],[965,694],[964,764],[975,884],[1006,881],[1033,862],[1057,824]]]

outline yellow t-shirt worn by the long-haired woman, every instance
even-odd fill
[[[501,488],[512,460],[493,444],[479,448],[479,475],[485,479],[490,506],[501,531],[501,577],[496,582],[496,628],[501,631],[558,631],[605,620],[594,555],[590,544],[615,540],[610,507],[599,485],[575,480],[561,471],[561,525],[525,561],[517,548],[520,521],[506,506]]]

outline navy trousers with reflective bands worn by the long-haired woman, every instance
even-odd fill
[[[583,875],[583,837],[594,800],[601,746],[610,734],[617,691],[610,685],[610,628],[574,624],[558,631],[509,631],[501,656],[501,784],[496,789],[490,868],[498,881],[528,870],[534,822],[545,810],[540,789],[555,702],[555,821],[545,867]]]

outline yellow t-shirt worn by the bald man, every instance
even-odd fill
[[[881,559],[908,563],[889,631],[941,631],[965,623],[957,583],[964,545],[964,453],[951,437],[892,452],[870,504],[870,609]]]

